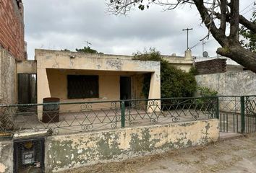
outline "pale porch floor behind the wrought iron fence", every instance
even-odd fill
[[[137,109],[125,110],[125,127],[176,123],[211,118],[202,110],[169,110],[150,112]],[[77,133],[91,130],[121,128],[121,109],[59,112],[59,122],[43,123],[35,112],[20,113],[15,117],[15,129],[51,129],[54,133]]]

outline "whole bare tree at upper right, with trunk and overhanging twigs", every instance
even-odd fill
[[[243,25],[248,30],[256,33],[256,24],[239,14],[239,0],[107,1],[109,12],[114,14],[127,14],[134,7],[144,10],[150,8],[151,5],[161,5],[165,9],[171,10],[182,4],[191,4],[197,8],[202,18],[202,23],[208,28],[208,35],[205,38],[211,34],[221,45],[221,48],[218,48],[216,52],[221,56],[231,58],[236,63],[256,73],[256,53],[244,48],[239,43],[239,25]]]

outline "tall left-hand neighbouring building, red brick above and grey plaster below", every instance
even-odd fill
[[[25,60],[21,0],[0,1],[0,103],[17,103],[16,61]]]

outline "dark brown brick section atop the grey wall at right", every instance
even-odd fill
[[[226,59],[213,59],[195,63],[197,74],[218,74],[226,72]]]

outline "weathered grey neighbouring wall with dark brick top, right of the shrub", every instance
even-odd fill
[[[195,58],[197,85],[218,92],[218,95],[256,94],[256,74],[226,57]],[[229,98],[230,99],[230,98]],[[229,101],[232,102],[232,101]],[[234,106],[234,105],[233,105]],[[232,108],[232,106],[230,106]]]

